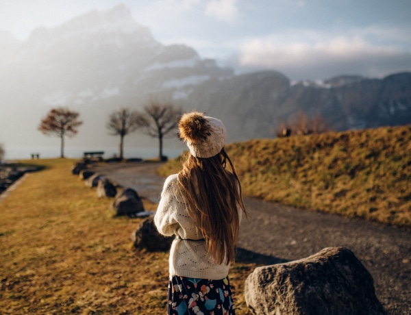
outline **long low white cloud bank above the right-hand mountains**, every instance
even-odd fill
[[[297,33],[245,40],[238,53],[239,66],[271,68],[295,79],[341,74],[382,77],[411,71],[411,51],[371,44],[362,36],[364,31],[334,37],[315,31]]]

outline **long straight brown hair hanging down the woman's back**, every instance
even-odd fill
[[[231,170],[227,170],[227,162]],[[206,240],[208,253],[217,264],[229,264],[234,260],[240,225],[238,207],[247,212],[240,181],[224,148],[208,158],[188,153],[178,182],[185,192],[188,212]]]

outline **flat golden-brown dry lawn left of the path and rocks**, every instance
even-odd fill
[[[135,249],[143,219],[114,217],[70,173],[73,160],[40,160],[0,204],[1,314],[165,314],[168,253]],[[146,210],[156,205],[145,201]],[[231,271],[238,314],[255,264]]]

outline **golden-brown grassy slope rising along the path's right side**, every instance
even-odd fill
[[[249,197],[411,226],[411,125],[249,140],[227,151]],[[176,159],[161,172],[178,168]]]

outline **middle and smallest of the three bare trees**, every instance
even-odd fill
[[[122,108],[112,112],[108,118],[107,129],[112,136],[120,136],[120,158],[123,160],[124,137],[136,131],[140,127],[138,124],[138,112],[132,112],[127,108]]]

